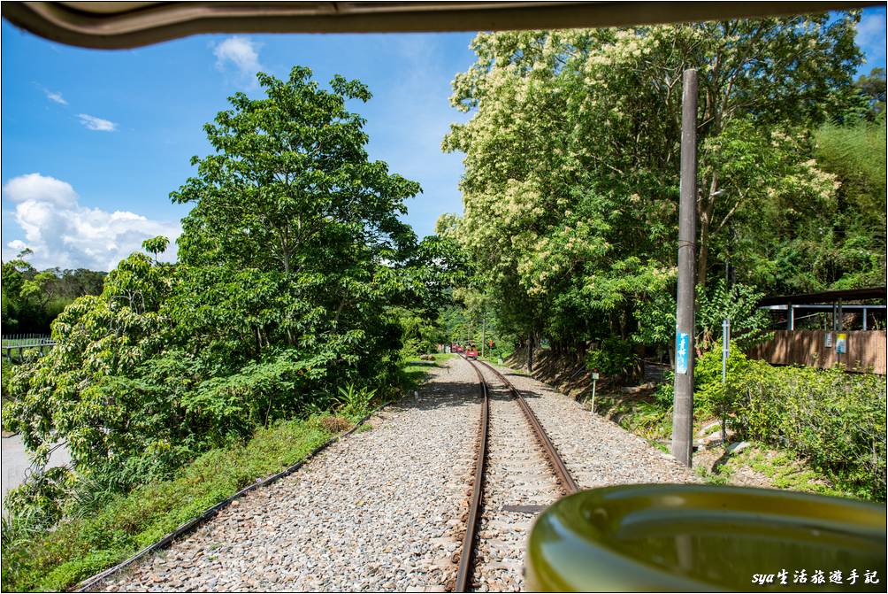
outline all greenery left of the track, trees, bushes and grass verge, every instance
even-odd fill
[[[4,429],[38,469],[59,446],[73,462],[4,498],[4,590],[120,560],[344,428],[318,415],[407,385],[404,320],[460,274],[448,240],[399,220],[421,189],[369,160],[345,107],[366,85],[302,67],[258,83],[264,98],[235,93],[204,126],[214,152],[170,194],[192,205],[178,261],[147,240],[56,317],[51,352],[4,368]]]

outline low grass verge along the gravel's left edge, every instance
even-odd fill
[[[325,418],[258,429],[244,444],[202,454],[176,478],[114,496],[52,532],[4,543],[3,590],[67,590],[123,561],[258,478],[304,460],[333,435]]]

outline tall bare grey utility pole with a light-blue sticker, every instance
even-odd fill
[[[672,455],[691,466],[694,447],[694,277],[697,237],[697,71],[685,70],[681,97],[681,186],[678,202],[678,295]]]

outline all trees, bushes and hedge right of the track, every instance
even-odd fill
[[[572,377],[597,370],[598,411],[670,438],[669,374],[653,393],[620,388],[642,383],[642,357],[674,360],[681,80],[696,68],[694,417],[726,417],[838,492],[884,501],[884,377],[742,357],[766,337],[766,295],[884,285],[885,72],[857,75],[859,21],[476,36],[450,97],[471,118],[442,142],[465,155],[464,213],[442,215],[437,232],[473,271],[454,292],[461,309],[438,320],[448,339],[484,332],[528,370],[541,348]]]

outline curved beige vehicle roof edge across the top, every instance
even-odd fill
[[[826,12],[803,2],[4,2],[13,25],[61,44],[131,49],[227,33],[408,33],[597,28]]]

